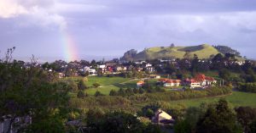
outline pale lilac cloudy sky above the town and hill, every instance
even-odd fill
[[[256,58],[256,0],[0,0],[0,58],[121,57],[132,48],[225,45]]]

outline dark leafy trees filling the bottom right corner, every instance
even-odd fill
[[[256,108],[239,107],[233,110],[224,99],[220,99],[215,104],[186,109],[174,129],[176,133],[253,133],[255,120]]]

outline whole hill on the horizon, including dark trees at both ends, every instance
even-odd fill
[[[218,53],[233,53],[232,48],[228,47],[230,51],[223,51],[225,46],[211,46],[208,44],[201,44],[197,46],[174,46],[170,47],[149,47],[145,48],[142,52],[137,53],[136,50],[131,49],[127,51],[121,60],[126,61],[137,61],[137,60],[147,60],[147,59],[158,59],[158,58],[183,58],[186,52],[189,52],[192,56],[196,54],[198,58],[211,58]],[[226,48],[226,47],[225,47]],[[221,50],[220,50],[221,49]],[[238,52],[237,52],[238,53]],[[239,56],[239,55],[236,55]]]

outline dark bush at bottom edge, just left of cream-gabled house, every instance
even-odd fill
[[[87,130],[84,132],[124,132],[124,133],[161,133],[157,125],[144,125],[136,116],[123,112],[110,112],[96,115],[88,114]]]

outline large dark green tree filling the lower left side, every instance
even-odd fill
[[[20,131],[63,132],[68,87],[49,80],[49,73],[35,62],[23,68],[9,61],[0,63],[0,116],[8,116],[9,130],[16,118],[26,116],[32,124],[20,121],[15,124]]]

